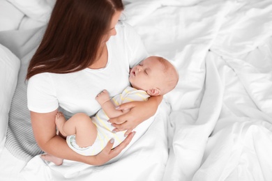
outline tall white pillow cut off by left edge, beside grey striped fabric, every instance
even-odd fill
[[[0,44],[0,152],[6,141],[8,112],[17,85],[19,70],[19,58]]]

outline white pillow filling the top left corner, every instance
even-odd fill
[[[0,31],[15,30],[18,28],[24,13],[15,8],[8,1],[0,1]]]

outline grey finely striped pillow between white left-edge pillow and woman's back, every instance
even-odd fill
[[[38,29],[0,32],[1,45],[8,47],[20,58],[17,85],[8,112],[5,148],[12,155],[26,162],[42,152],[32,132],[30,112],[27,108],[27,81],[25,81],[25,77],[29,61],[36,52],[44,31],[45,26]]]

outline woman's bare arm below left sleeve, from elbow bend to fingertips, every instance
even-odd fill
[[[36,113],[31,111],[31,124],[33,134],[39,147],[50,155],[91,165],[102,165],[119,155],[123,148],[130,143],[135,133],[131,133],[116,148],[112,149],[113,143],[107,143],[104,150],[95,156],[79,155],[71,150],[61,136],[56,135],[55,116],[57,110],[50,113]]]

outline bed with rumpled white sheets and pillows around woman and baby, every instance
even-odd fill
[[[54,0],[0,1],[0,180],[272,180],[272,1],[124,3],[179,83],[119,157],[55,166],[31,136],[24,81]]]

